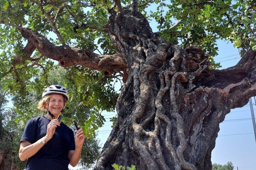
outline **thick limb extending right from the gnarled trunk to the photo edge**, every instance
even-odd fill
[[[242,107],[256,95],[256,51],[248,51],[239,63],[224,70],[203,70],[196,86],[216,88],[226,98],[227,108]]]

